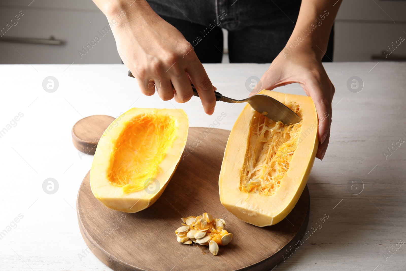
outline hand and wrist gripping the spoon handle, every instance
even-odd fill
[[[205,113],[216,106],[214,87],[192,46],[145,0],[93,0],[106,14],[123,63],[145,95],[158,92],[164,101],[183,103],[196,87]]]

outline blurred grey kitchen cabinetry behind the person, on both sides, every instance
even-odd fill
[[[333,61],[406,61],[405,31],[406,1],[344,0]],[[121,63],[108,21],[91,0],[0,0],[0,52],[0,64]]]

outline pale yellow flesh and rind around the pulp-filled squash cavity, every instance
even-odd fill
[[[310,97],[263,90],[282,103],[294,101],[302,111],[302,130],[289,170],[281,180],[273,195],[248,194],[240,190],[240,169],[244,163],[249,124],[253,117],[251,106],[247,104],[235,122],[222,161],[219,176],[220,201],[239,219],[260,227],[274,225],[283,220],[292,211],[304,187],[317,153],[318,139],[317,112]]]

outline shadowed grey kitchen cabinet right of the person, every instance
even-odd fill
[[[397,42],[406,38],[405,12],[406,1],[343,1],[335,21],[333,61],[384,61],[376,59],[386,56],[383,51],[390,60],[405,61],[406,41]]]

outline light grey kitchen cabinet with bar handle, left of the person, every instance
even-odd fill
[[[49,39],[52,35],[63,43],[2,41],[0,63],[121,63],[106,16],[92,1],[70,1],[71,4],[69,1],[36,0],[29,7],[22,2],[14,1],[13,5],[0,2],[0,30],[6,29],[3,29],[0,41],[10,37]],[[15,15],[21,12],[24,15],[15,20]]]

